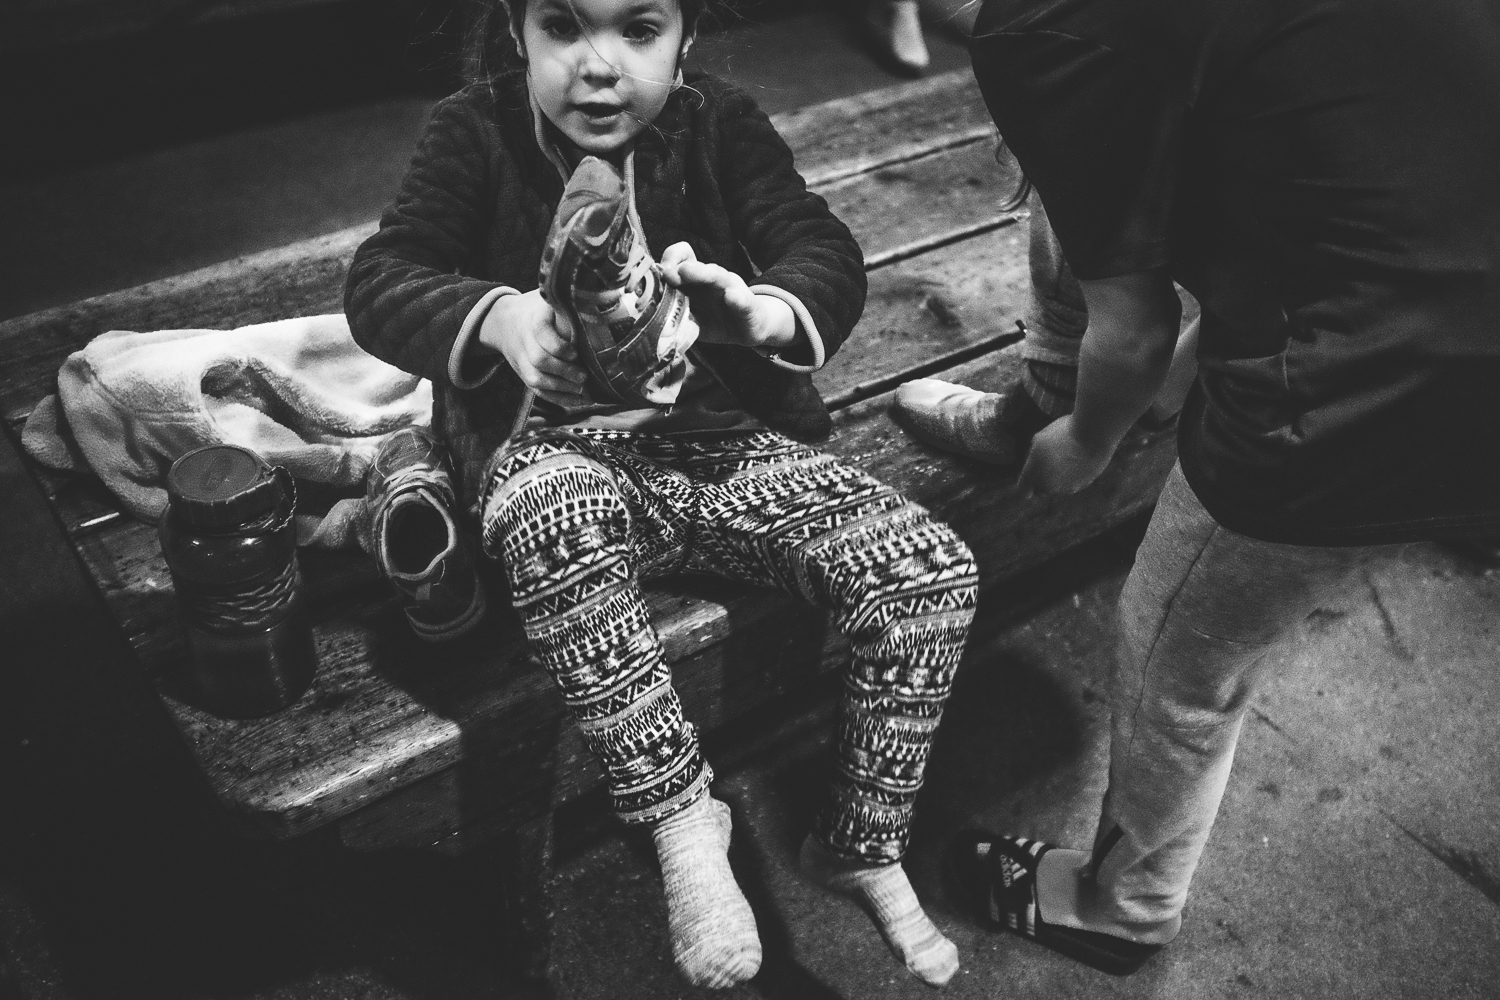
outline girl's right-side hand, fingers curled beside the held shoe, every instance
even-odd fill
[[[705,343],[780,348],[796,337],[796,315],[774,295],[756,295],[746,280],[718,264],[704,264],[687,243],[662,253],[662,274],[693,303]]]

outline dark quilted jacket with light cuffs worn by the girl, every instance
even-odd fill
[[[636,139],[636,207],[657,256],[686,241],[700,261],[776,285],[807,307],[826,355],[864,309],[864,259],[828,204],[807,190],[792,153],[754,102],[729,84],[688,75]],[[345,312],[356,342],[432,379],[434,429],[453,453],[465,507],[516,420],[525,387],[504,364],[459,388],[448,360],[470,310],[489,291],[537,286],[542,244],[562,196],[558,169],[537,147],[520,73],[471,85],[432,112],[380,231],[354,255]],[[462,381],[482,348],[470,348]],[[488,354],[488,360],[496,355]],[[828,411],[812,379],[734,345],[693,348],[740,403],[768,427],[813,441]],[[810,363],[810,358],[789,361]]]

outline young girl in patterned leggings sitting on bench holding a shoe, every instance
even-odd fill
[[[504,562],[616,813],[652,834],[681,973],[728,987],[760,963],[726,861],[729,808],[710,795],[639,591],[686,571],[782,588],[849,636],[837,768],[802,867],[860,900],[897,957],[942,984],[957,952],[900,859],[975,567],[920,507],[792,439],[828,433],[808,373],[860,316],[862,261],[765,114],[718,79],[684,79],[700,4],[498,7],[471,63],[478,79],[434,111],[354,259],[346,312],[368,351],[432,379],[434,426],[484,550]],[[590,156],[622,174],[618,204],[588,184],[566,192],[580,162],[578,175],[616,175]],[[603,205],[620,247],[638,247],[628,276],[588,274],[606,285],[594,292],[633,309],[692,300],[700,336],[670,366],[658,396],[670,406],[620,402],[590,376],[574,346],[582,306],[567,301],[582,289],[538,288],[543,256],[555,279],[572,252],[579,204]]]

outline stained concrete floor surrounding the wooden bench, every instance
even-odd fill
[[[824,7],[714,43],[705,58],[772,111],[891,79]],[[938,69],[962,64],[933,46]],[[430,99],[384,93],[16,174],[0,187],[0,318],[370,217]],[[495,858],[237,838],[0,445],[0,1000],[700,993],[674,973],[648,844],[598,804],[564,817],[546,990],[508,973]],[[1500,997],[1500,576],[1436,546],[1372,558],[1276,654],[1184,934],[1142,972],[1096,975],[948,904],[936,864],[956,829],[1092,835],[1110,607],[1134,537],[984,598],[909,858],[963,958],[945,993]],[[824,685],[710,747],[766,945],[760,976],[718,996],[932,996],[862,913],[792,870],[832,703]]]

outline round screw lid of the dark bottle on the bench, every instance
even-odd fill
[[[166,472],[166,499],[184,525],[232,529],[254,525],[284,504],[280,478],[261,456],[232,444],[189,451]]]

